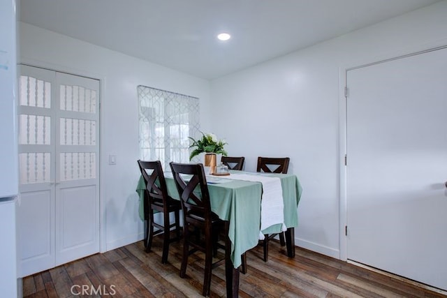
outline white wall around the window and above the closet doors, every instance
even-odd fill
[[[20,23],[20,63],[101,80],[101,250],[142,239],[135,186],[139,177],[139,84],[200,98],[201,126],[210,124],[210,85],[191,75]],[[117,165],[108,165],[108,155]]]

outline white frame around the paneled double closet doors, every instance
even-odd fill
[[[18,59],[17,59],[18,60]],[[77,75],[80,77],[87,77],[89,79],[93,79],[93,80],[98,80],[99,81],[99,100],[98,100],[98,105],[99,105],[99,121],[98,121],[98,125],[99,125],[99,137],[98,137],[98,142],[99,142],[99,158],[98,158],[98,163],[99,163],[99,179],[98,179],[98,183],[99,183],[99,253],[105,253],[107,250],[107,245],[106,245],[106,239],[105,239],[105,203],[104,203],[104,199],[103,199],[103,193],[105,193],[105,181],[104,181],[104,177],[102,175],[103,172],[103,165],[106,164],[106,161],[103,160],[103,149],[101,147],[101,144],[103,142],[103,127],[101,125],[101,119],[103,119],[103,111],[101,109],[101,103],[103,101],[103,96],[105,94],[105,86],[106,86],[106,78],[104,75],[98,74],[98,73],[89,73],[87,71],[84,70],[79,70],[79,69],[75,69],[75,68],[68,68],[66,66],[61,66],[61,65],[54,65],[54,64],[49,64],[47,62],[44,61],[36,61],[33,59],[20,59],[20,61],[17,61],[17,65],[24,65],[24,66],[31,66],[31,67],[36,67],[36,68],[43,68],[46,70],[51,70],[51,71],[55,71],[58,73],[67,73],[68,75]]]

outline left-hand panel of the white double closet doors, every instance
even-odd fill
[[[54,99],[56,73],[19,68],[19,276],[54,266]]]

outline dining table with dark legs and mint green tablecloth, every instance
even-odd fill
[[[207,172],[207,171],[205,171]],[[164,172],[168,195],[179,200],[173,174]],[[236,177],[239,177],[236,179]],[[248,180],[240,177],[249,177]],[[256,181],[258,177],[259,181]],[[261,200],[263,177],[278,178],[281,183],[282,223],[275,223],[261,230]],[[206,174],[212,211],[225,221],[226,292],[227,297],[238,297],[242,255],[258,245],[260,235],[285,231],[288,257],[295,256],[294,231],[298,227],[298,203],[302,186],[295,174],[246,172],[230,170],[227,176]],[[140,198],[139,215],[144,220],[145,181],[140,177],[136,191]],[[268,210],[266,210],[268,211]]]

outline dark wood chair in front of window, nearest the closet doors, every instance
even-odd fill
[[[142,178],[146,184],[145,191],[145,248],[146,252],[151,250],[152,238],[158,234],[163,234],[163,253],[161,255],[161,262],[165,264],[168,262],[169,244],[173,241],[178,241],[181,237],[180,232],[180,216],[179,211],[182,209],[182,204],[179,200],[175,200],[168,195],[166,188],[166,180],[163,174],[160,161],[138,161]],[[154,213],[163,213],[163,224],[154,221]],[[174,212],[175,222],[170,223],[170,213]],[[154,228],[158,230],[154,231]],[[175,228],[176,237],[170,238],[170,230]]]

